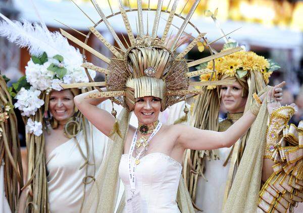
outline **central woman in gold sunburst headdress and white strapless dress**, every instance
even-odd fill
[[[161,10],[163,1],[158,1],[155,9],[156,15],[151,35],[144,34],[142,2],[137,1],[138,35],[136,38],[134,38],[121,1],[119,1],[120,12],[108,17],[105,16],[96,1],[91,2],[102,18],[102,22],[106,24],[115,38],[120,51],[113,48],[96,31],[97,24],[89,27],[91,33],[113,52],[115,58],[105,57],[62,30],[62,34],[67,38],[108,63],[107,69],[89,64],[82,65],[90,69],[98,69],[106,74],[105,82],[93,82],[86,85],[106,86],[106,89],[84,93],[74,99],[84,116],[111,139],[107,156],[96,177],[94,188],[85,203],[84,211],[113,212],[118,191],[118,176],[120,176],[125,186],[125,199],[123,199],[125,203],[121,203],[118,211],[124,208],[124,203],[127,212],[180,212],[180,210],[181,212],[194,212],[191,199],[181,178],[181,161],[184,150],[214,149],[234,144],[256,119],[260,103],[266,94],[260,98],[255,97],[258,102],[252,103],[242,118],[225,132],[199,130],[182,124],[163,125],[158,120],[160,111],[179,101],[186,101],[189,95],[203,92],[203,90],[190,90],[190,85],[222,84],[222,81],[190,83],[189,77],[210,70],[189,72],[188,67],[240,51],[241,48],[231,48],[217,55],[187,63],[183,57],[195,46],[197,41],[204,38],[205,33],[199,33],[184,51],[181,53],[174,51],[178,39],[199,3],[198,0],[194,2],[189,14],[184,18],[171,48],[167,48],[164,41],[172,18],[175,16],[178,1],[174,1],[171,12],[168,12],[170,15],[161,38],[157,37],[157,29],[161,12],[164,12]],[[151,11],[151,9],[148,7],[146,11]],[[128,48],[122,44],[109,22],[110,17],[120,13],[131,42]],[[211,54],[213,53],[211,52]],[[232,82],[226,80],[224,84]],[[271,90],[274,91],[282,86],[283,83]],[[62,85],[62,87],[78,87],[78,85]],[[111,99],[112,102],[119,103],[125,108],[118,118],[114,108],[109,113],[96,107],[106,99]],[[138,128],[129,125],[131,111],[138,118]],[[184,112],[188,113],[187,107],[184,108]]]

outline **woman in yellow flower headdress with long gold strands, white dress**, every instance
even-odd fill
[[[222,51],[237,46],[229,40]],[[235,80],[231,85],[208,86],[206,93],[195,100],[191,124],[199,129],[226,131],[248,110],[252,94],[260,93],[268,84],[271,73],[279,68],[273,61],[254,52],[239,51],[200,64],[197,69],[215,68],[215,74],[200,76],[201,81]],[[277,89],[276,100],[281,100],[281,89]],[[228,111],[227,118],[219,122],[220,103]],[[266,130],[264,130],[266,131]],[[220,212],[229,194],[237,166],[248,140],[249,131],[231,148],[211,151],[188,150],[185,155],[183,176],[197,208],[206,212]],[[199,177],[203,176],[203,177]],[[220,177],[220,178],[219,178]],[[217,205],[210,203],[217,202]]]

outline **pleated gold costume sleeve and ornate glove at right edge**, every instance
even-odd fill
[[[278,109],[275,117],[288,121],[293,113],[294,109],[288,106],[288,110],[285,107]],[[276,163],[274,173],[259,192],[258,211],[292,212],[297,202],[303,202],[302,142],[303,121],[299,122],[298,127],[293,124],[286,126],[283,137],[274,146],[271,156]]]

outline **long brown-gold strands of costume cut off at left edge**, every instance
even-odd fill
[[[17,118],[5,76],[0,75],[0,212],[15,212],[23,187]]]

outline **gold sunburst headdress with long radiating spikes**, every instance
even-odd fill
[[[170,1],[171,2],[171,1]],[[102,61],[108,64],[108,67],[102,68],[95,66],[91,63],[87,63],[84,59],[84,63],[82,67],[86,69],[86,73],[90,79],[90,83],[75,83],[75,84],[65,84],[62,85],[63,88],[79,88],[79,87],[106,87],[107,92],[102,92],[99,88],[97,93],[90,94],[89,98],[111,98],[112,101],[121,104],[128,110],[133,110],[134,100],[138,97],[144,96],[155,96],[161,98],[162,108],[161,110],[165,110],[168,106],[173,105],[179,101],[186,100],[187,98],[194,96],[196,94],[200,94],[203,92],[202,89],[190,89],[190,86],[208,86],[208,85],[219,85],[219,84],[228,84],[230,82],[220,82],[220,81],[208,81],[208,82],[190,82],[189,78],[198,76],[204,73],[211,73],[214,71],[210,69],[201,69],[193,72],[189,72],[189,67],[212,61],[225,55],[240,51],[241,48],[236,47],[229,49],[224,52],[220,52],[218,54],[213,54],[211,47],[208,45],[208,42],[204,35],[206,33],[201,33],[189,20],[193,15],[197,5],[199,4],[199,0],[194,1],[190,11],[187,16],[184,18],[180,15],[177,15],[176,9],[178,5],[178,0],[173,2],[171,7],[171,11],[168,11],[167,6],[166,10],[162,10],[163,0],[158,1],[158,5],[156,9],[142,8],[142,1],[137,1],[137,9],[128,9],[125,10],[122,5],[122,1],[119,0],[119,8],[120,11],[117,13],[113,13],[112,7],[110,5],[112,14],[106,16],[102,9],[99,7],[95,0],[91,0],[94,8],[102,18],[97,23],[93,22],[91,18],[88,17],[82,10],[82,12],[93,22],[93,26],[89,27],[89,33],[86,36],[84,42],[75,38],[68,32],[61,29],[61,33],[66,36],[71,41],[75,42],[77,45],[82,47],[83,54],[85,52],[90,52],[94,56],[98,57]],[[184,6],[185,7],[185,6]],[[137,37],[135,38],[134,33],[132,31],[130,22],[127,17],[128,12],[137,11]],[[153,30],[151,34],[144,33],[143,26],[143,16],[142,11],[153,11],[156,12],[155,20],[153,25]],[[164,32],[160,38],[157,37],[158,26],[160,22],[161,13],[168,13],[169,17],[166,21]],[[122,41],[118,37],[117,33],[111,26],[109,19],[120,15],[122,16],[126,32],[128,34],[128,38],[130,40],[130,46],[128,45],[126,39],[125,43],[127,47],[123,45]],[[168,32],[170,30],[170,26],[172,25],[173,18],[177,16],[183,19],[183,23],[177,32],[172,47],[168,47],[165,40],[167,38]],[[100,23],[105,23],[108,30],[114,37],[119,47],[114,47],[111,45],[105,37],[96,30],[96,27]],[[181,52],[176,53],[175,49],[177,48],[177,42],[183,33],[187,24],[190,24],[194,27],[198,36],[195,37],[190,44]],[[148,21],[147,21],[148,26]],[[148,28],[148,27],[147,27]],[[108,58],[103,54],[97,52],[87,45],[87,41],[89,36],[93,34],[96,36],[114,55],[114,58]],[[199,60],[188,62],[188,60],[184,59],[184,56],[199,42],[200,40],[204,41],[206,47],[210,50],[211,55],[202,58]],[[94,82],[93,79],[89,76],[87,69],[92,69],[106,75],[104,82]]]

